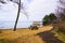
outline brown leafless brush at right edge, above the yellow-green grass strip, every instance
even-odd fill
[[[57,23],[53,25],[54,29],[57,29],[57,32],[65,33],[65,22]]]

